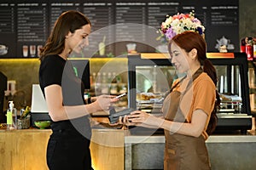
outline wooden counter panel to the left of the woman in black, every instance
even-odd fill
[[[0,132],[0,166],[3,170],[47,170],[46,146],[49,130]]]

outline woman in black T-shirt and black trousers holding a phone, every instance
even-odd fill
[[[87,45],[89,34],[90,20],[78,11],[67,11],[56,20],[41,49],[39,82],[53,121],[47,147],[51,170],[91,169],[88,116],[107,110],[117,100],[102,95],[91,104],[86,101],[85,105],[83,83],[75,76],[67,58]]]

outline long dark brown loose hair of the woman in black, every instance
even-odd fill
[[[58,20],[55,21],[55,26],[51,31],[44,48],[40,49],[40,60],[44,59],[49,54],[61,54],[65,48],[65,38],[70,31],[82,28],[82,26],[90,24],[84,14],[79,11],[69,10],[61,14]]]

